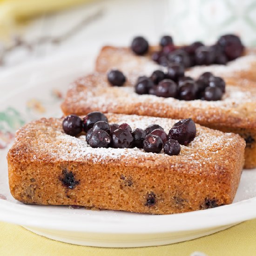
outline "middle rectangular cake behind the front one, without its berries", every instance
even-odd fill
[[[65,115],[86,115],[91,111],[148,115],[175,119],[192,118],[196,123],[224,132],[234,132],[246,141],[245,168],[256,167],[256,87],[254,82],[226,79],[221,101],[181,101],[135,93],[130,81],[113,87],[106,74],[90,74],[67,91]]]

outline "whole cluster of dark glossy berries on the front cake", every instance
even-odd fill
[[[132,131],[127,123],[109,124],[101,112],[91,112],[81,119],[68,115],[62,122],[64,132],[71,136],[86,132],[86,141],[92,148],[143,148],[146,152],[160,153],[162,148],[168,155],[179,155],[180,144],[188,145],[195,138],[196,128],[192,119],[183,119],[169,130],[168,135],[157,124],[145,130]]]

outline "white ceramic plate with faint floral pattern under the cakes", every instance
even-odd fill
[[[12,197],[6,155],[13,133],[27,121],[61,116],[61,94],[65,94],[68,84],[76,77],[93,69],[94,56],[86,52],[69,54],[0,75],[0,220],[67,243],[139,247],[190,240],[255,218],[256,169],[243,171],[231,205],[183,214],[154,216],[24,205]]]

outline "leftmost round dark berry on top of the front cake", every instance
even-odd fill
[[[83,130],[83,121],[78,115],[68,115],[62,122],[62,128],[67,135],[76,136]]]

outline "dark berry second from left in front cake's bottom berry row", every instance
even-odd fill
[[[113,148],[131,148],[133,143],[133,136],[130,132],[117,129],[112,135]]]

